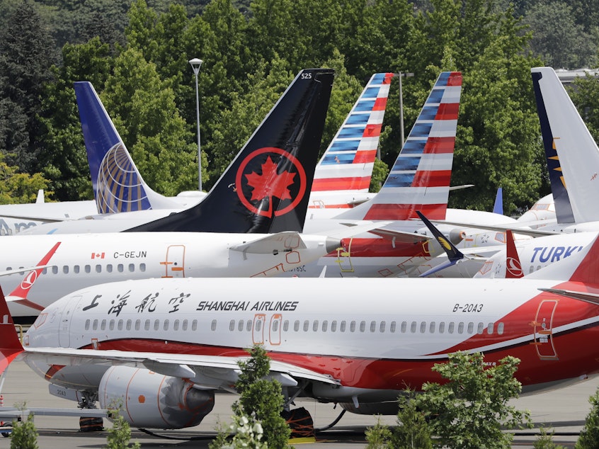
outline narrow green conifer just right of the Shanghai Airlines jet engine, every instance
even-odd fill
[[[232,408],[237,416],[254,416],[260,422],[269,448],[287,448],[290,428],[281,416],[283,394],[277,380],[268,380],[270,359],[262,346],[249,350],[250,358],[239,362],[241,373],[235,384],[239,399]]]

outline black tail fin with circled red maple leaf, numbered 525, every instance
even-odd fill
[[[129,231],[302,232],[333,74],[302,70],[201,203]]]

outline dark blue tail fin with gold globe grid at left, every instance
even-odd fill
[[[75,94],[98,213],[180,209],[144,182],[91,83],[76,81]]]

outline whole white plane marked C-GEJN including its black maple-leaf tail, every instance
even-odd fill
[[[270,276],[338,247],[338,238],[301,233],[332,83],[331,69],[296,76],[215,188],[174,223],[200,232],[3,237],[0,267],[7,271],[35,266],[61,243],[28,303],[11,302],[11,312],[31,317],[67,292],[111,280]],[[3,278],[7,291],[19,282]]]

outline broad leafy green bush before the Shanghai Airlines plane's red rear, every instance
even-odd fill
[[[501,429],[530,423],[527,411],[508,405],[522,388],[514,377],[518,363],[508,356],[486,368],[481,353],[457,352],[436,364],[433,370],[446,383],[426,382],[412,401],[429,417],[431,433],[438,437],[435,446],[510,448],[513,435]]]

